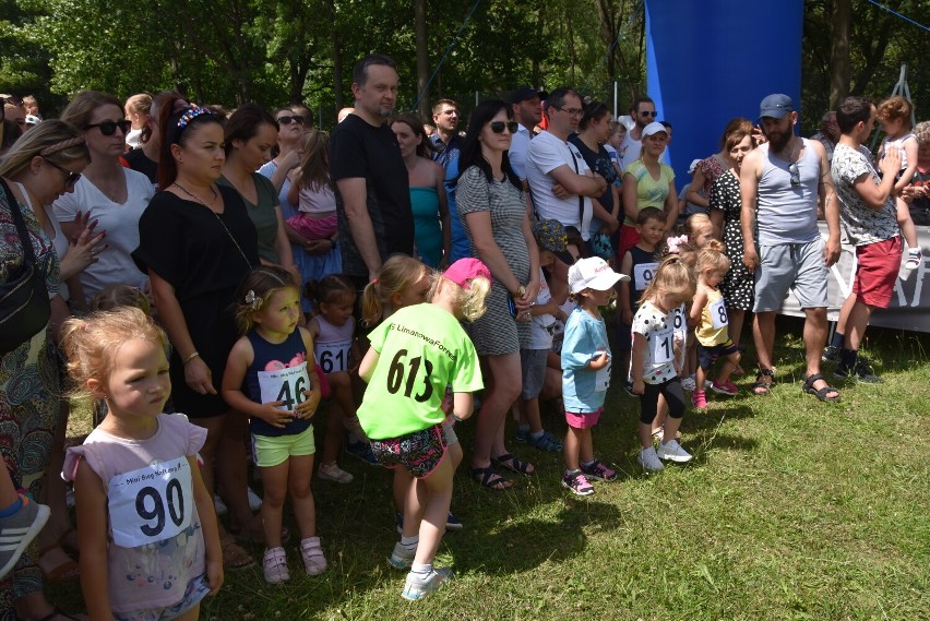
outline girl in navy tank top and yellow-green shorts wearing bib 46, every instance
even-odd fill
[[[313,473],[313,425],[320,404],[313,338],[297,325],[300,290],[282,267],[252,270],[236,294],[236,321],[243,335],[229,351],[223,398],[249,416],[255,465],[262,474],[262,523],[265,580],[290,578],[282,547],[282,512],[290,494],[300,529],[300,556],[310,575],[326,569],[317,537],[317,512],[310,492]],[[245,389],[245,392],[243,392]]]

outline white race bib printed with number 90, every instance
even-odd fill
[[[187,457],[116,475],[107,490],[114,542],[138,548],[177,537],[191,524],[193,486]]]

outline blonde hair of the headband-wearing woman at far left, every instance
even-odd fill
[[[24,133],[0,159],[0,176],[15,179],[37,156],[59,166],[90,163],[91,152],[83,138],[69,123],[57,119],[44,121]]]

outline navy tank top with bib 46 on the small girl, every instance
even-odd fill
[[[307,370],[307,348],[300,330],[295,330],[284,343],[269,343],[254,330],[246,334],[255,357],[246,370],[246,394],[255,403],[284,402],[282,409],[294,411],[305,402],[303,391],[310,389]],[[294,418],[283,429],[272,427],[261,418],[249,418],[249,430],[255,435],[296,435],[310,427],[311,419]]]

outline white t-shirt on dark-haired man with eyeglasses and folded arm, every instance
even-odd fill
[[[579,175],[588,170],[577,147],[550,132],[545,131],[530,141],[529,156],[526,158],[526,179],[529,181],[533,206],[539,219],[557,219],[564,226],[573,226],[581,231],[582,239],[587,240],[591,237],[593,213],[591,199],[584,198],[583,222],[579,222],[579,198],[572,195],[558,199],[552,193],[555,179],[549,172],[563,165]]]

